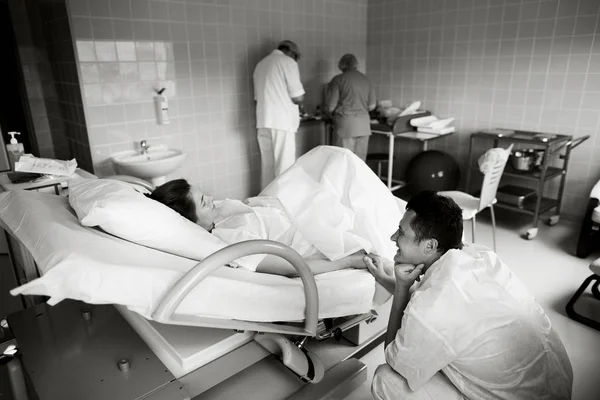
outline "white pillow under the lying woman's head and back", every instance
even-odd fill
[[[181,257],[201,261],[227,246],[201,226],[125,182],[71,180],[69,204],[84,226],[99,226],[122,239]]]

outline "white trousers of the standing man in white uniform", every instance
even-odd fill
[[[296,162],[296,133],[258,128],[258,147],[261,156],[261,185],[264,189]]]

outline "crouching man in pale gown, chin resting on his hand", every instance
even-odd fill
[[[453,200],[422,192],[391,237],[394,261],[365,257],[393,294],[373,396],[569,399],[573,371],[550,320],[495,253],[463,246],[462,230]]]

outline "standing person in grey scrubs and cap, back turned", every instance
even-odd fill
[[[342,71],[327,86],[327,112],[333,119],[335,145],[344,147],[367,159],[371,118],[369,111],[376,106],[375,91],[369,78],[358,71],[353,54],[344,54],[338,62]]]

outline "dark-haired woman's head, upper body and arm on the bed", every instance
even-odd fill
[[[268,239],[290,246],[305,259],[315,275],[346,268],[366,268],[363,261],[365,251],[359,250],[334,261],[328,260],[302,236],[281,202],[274,197],[252,197],[244,202],[233,199],[215,201],[185,179],[158,186],[147,197],[172,208],[227,244]],[[254,265],[257,272],[297,275],[297,271],[280,257],[249,257],[256,258]]]

